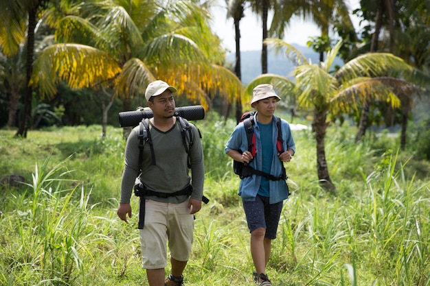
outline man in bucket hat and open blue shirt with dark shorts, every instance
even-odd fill
[[[255,154],[249,151],[245,121],[236,126],[226,143],[225,153],[251,167],[242,177],[238,194],[251,233],[251,256],[256,269],[254,281],[259,286],[271,286],[266,267],[271,252],[271,241],[276,238],[283,201],[288,198],[284,162],[295,153],[291,128],[284,119],[275,117],[280,97],[271,84],[260,84],[253,89],[251,107],[257,112],[251,117],[255,136]],[[282,132],[278,132],[281,128]],[[278,140],[282,134],[282,140]],[[277,145],[278,146],[277,147]],[[284,151],[285,150],[285,151]]]

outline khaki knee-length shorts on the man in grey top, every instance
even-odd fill
[[[178,261],[190,258],[194,215],[187,208],[188,200],[180,204],[145,202],[145,225],[140,232],[144,269],[167,266],[167,243],[170,257]]]

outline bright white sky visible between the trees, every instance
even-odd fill
[[[360,0],[346,0],[350,8],[352,23],[355,29],[359,27],[359,20],[352,15],[352,11],[360,7]],[[227,19],[225,0],[216,0],[216,5],[212,8],[212,29],[221,39],[223,47],[234,53],[236,51],[234,23],[233,19]],[[271,19],[267,22],[270,25]],[[317,26],[312,23],[305,23],[302,19],[293,19],[290,26],[286,28],[284,41],[289,44],[306,46],[306,42],[311,36],[319,36]],[[262,46],[262,23],[261,19],[249,10],[245,10],[245,17],[240,20],[240,50],[256,51]]]

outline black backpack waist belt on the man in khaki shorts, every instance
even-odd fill
[[[192,185],[188,184],[187,187],[181,189],[181,191],[175,191],[174,193],[160,193],[158,191],[152,191],[150,189],[146,189],[144,184],[139,183],[135,185],[135,195],[140,198],[139,205],[139,229],[144,229],[145,224],[145,197],[155,196],[157,198],[169,198],[169,197],[177,197],[178,195],[191,195],[192,193]],[[207,204],[209,200],[203,195],[202,201]]]

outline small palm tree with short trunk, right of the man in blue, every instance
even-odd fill
[[[390,53],[367,53],[346,62],[338,71],[332,73],[332,63],[341,47],[341,41],[327,53],[326,60],[321,64],[310,64],[302,53],[282,40],[271,38],[266,42],[276,49],[285,49],[286,56],[298,64],[293,71],[296,82],[293,84],[287,78],[278,75],[261,75],[249,83],[245,93],[249,93],[257,84],[265,82],[272,83],[278,88],[280,95],[299,94],[297,98],[299,107],[314,112],[312,128],[317,142],[317,174],[321,187],[335,190],[328,172],[324,144],[329,124],[328,115],[340,115],[350,108],[357,108],[358,102],[370,98],[387,100],[392,105],[398,106],[400,104],[398,97],[391,91],[371,92],[373,88],[381,88],[383,83],[370,76],[383,75],[394,69],[400,76],[411,73],[414,69]]]

